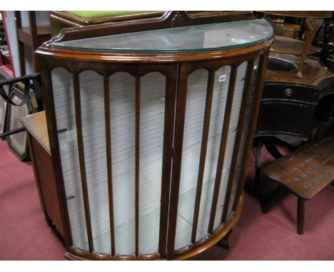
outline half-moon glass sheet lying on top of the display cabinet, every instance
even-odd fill
[[[50,45],[51,48],[81,51],[183,53],[250,46],[272,36],[270,23],[256,19],[83,38]]]

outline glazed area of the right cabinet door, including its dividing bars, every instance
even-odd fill
[[[244,61],[237,67],[201,68],[188,75],[176,251],[206,239],[223,226],[231,211],[228,184],[233,179],[234,153],[239,149],[236,135],[247,69],[248,61]]]

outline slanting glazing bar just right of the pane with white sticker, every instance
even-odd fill
[[[230,82],[228,83],[228,96],[226,99],[223,129],[221,131],[221,146],[219,148],[219,157],[218,157],[217,170],[216,170],[215,187],[213,189],[213,199],[212,199],[211,213],[210,213],[210,219],[209,219],[209,224],[208,224],[209,234],[211,234],[213,231],[213,224],[215,221],[216,209],[217,209],[217,204],[218,204],[219,188],[221,187],[221,175],[223,172],[224,155],[225,155],[225,150],[226,150],[226,142],[228,138],[228,127],[230,126],[230,117],[231,117],[231,110],[232,110],[232,103],[233,103],[234,88],[236,87],[236,74],[237,74],[237,68],[233,66],[231,68]]]

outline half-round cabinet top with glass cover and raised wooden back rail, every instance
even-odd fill
[[[242,56],[273,42],[273,28],[264,19],[212,22],[186,13],[172,15],[133,25],[68,28],[36,53],[72,61],[171,63]],[[175,21],[181,26],[171,27]]]

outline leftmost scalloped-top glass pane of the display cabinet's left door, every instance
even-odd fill
[[[67,208],[74,246],[88,250],[85,210],[81,187],[78,143],[76,139],[76,115],[72,74],[64,68],[51,71],[54,89],[56,130],[59,138],[61,169],[66,191]]]

